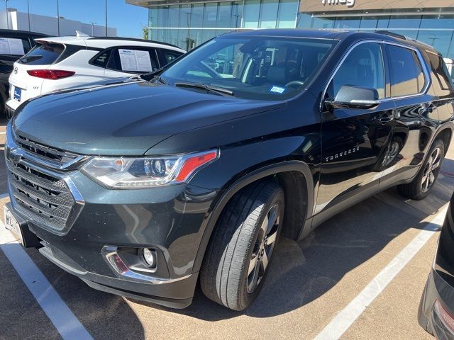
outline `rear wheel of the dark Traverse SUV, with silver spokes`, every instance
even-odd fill
[[[442,140],[436,140],[415,179],[411,183],[398,186],[399,193],[412,200],[426,198],[438,178],[444,157],[445,145]]]

